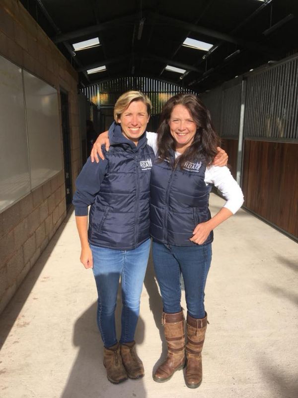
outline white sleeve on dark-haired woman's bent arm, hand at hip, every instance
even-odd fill
[[[226,166],[208,167],[205,173],[205,183],[214,184],[220,190],[226,199],[224,207],[228,208],[233,214],[242,206],[243,193]]]

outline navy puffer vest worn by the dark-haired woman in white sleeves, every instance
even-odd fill
[[[173,155],[174,156],[174,155]],[[208,221],[211,186],[206,186],[206,166],[186,162],[172,169],[169,162],[155,161],[150,180],[150,234],[166,245],[193,246],[189,238],[196,225]],[[213,241],[213,231],[204,244]]]

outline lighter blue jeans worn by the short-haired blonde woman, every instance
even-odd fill
[[[134,340],[139,318],[150,239],[133,250],[106,249],[93,245],[90,248],[98,293],[97,325],[103,344],[110,347],[117,343],[115,308],[120,276],[123,303],[120,343],[129,343]]]

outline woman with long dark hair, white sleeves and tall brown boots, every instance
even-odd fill
[[[157,136],[158,159],[150,179],[150,234],[168,354],[153,379],[166,382],[184,367],[186,359],[186,385],[197,388],[202,382],[201,352],[207,328],[204,289],[213,229],[240,208],[243,195],[229,170],[213,165],[219,138],[209,110],[198,97],[178,94],[170,98],[162,109]],[[227,199],[214,217],[208,207],[212,184]],[[181,273],[187,304],[186,344]]]

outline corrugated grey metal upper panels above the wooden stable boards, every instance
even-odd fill
[[[232,79],[200,97],[222,138],[298,141],[297,54]],[[242,158],[242,142],[238,158]],[[237,175],[240,172],[237,167]]]

